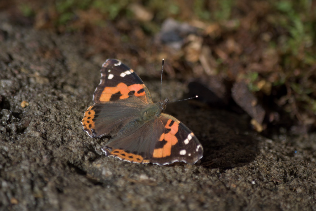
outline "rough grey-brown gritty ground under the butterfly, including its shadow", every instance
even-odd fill
[[[78,36],[0,19],[0,210],[316,210],[315,134],[263,137],[245,115],[185,101],[167,113],[200,139],[200,163],[104,157],[107,139],[88,137],[80,121],[106,58],[83,58]],[[144,81],[155,100],[159,80]],[[163,83],[171,99],[185,91]]]

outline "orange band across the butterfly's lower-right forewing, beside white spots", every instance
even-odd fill
[[[167,129],[170,129],[169,132],[163,133],[159,141],[165,140],[167,143],[162,147],[154,150],[153,157],[161,158],[171,155],[171,147],[178,143],[178,138],[175,134],[178,132],[179,123],[175,122],[172,119],[168,119],[167,124],[165,125]]]

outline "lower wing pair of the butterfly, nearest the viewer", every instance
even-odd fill
[[[112,138],[105,152],[108,156],[134,163],[196,163],[203,148],[195,135],[178,119],[162,113],[160,117],[128,134]]]

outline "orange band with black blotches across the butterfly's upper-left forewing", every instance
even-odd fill
[[[145,89],[143,84],[132,84],[131,86],[127,86],[125,83],[119,83],[115,87],[107,86],[101,93],[100,101],[107,102],[110,101],[113,94],[120,93],[121,96],[119,99],[127,99],[130,96],[128,93],[134,91],[134,95],[136,97],[145,95]],[[143,90],[142,90],[143,89]]]

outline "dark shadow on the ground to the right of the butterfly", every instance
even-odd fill
[[[249,117],[212,108],[196,100],[168,104],[167,112],[182,121],[204,148],[197,165],[231,169],[251,163],[258,155],[258,137]]]

